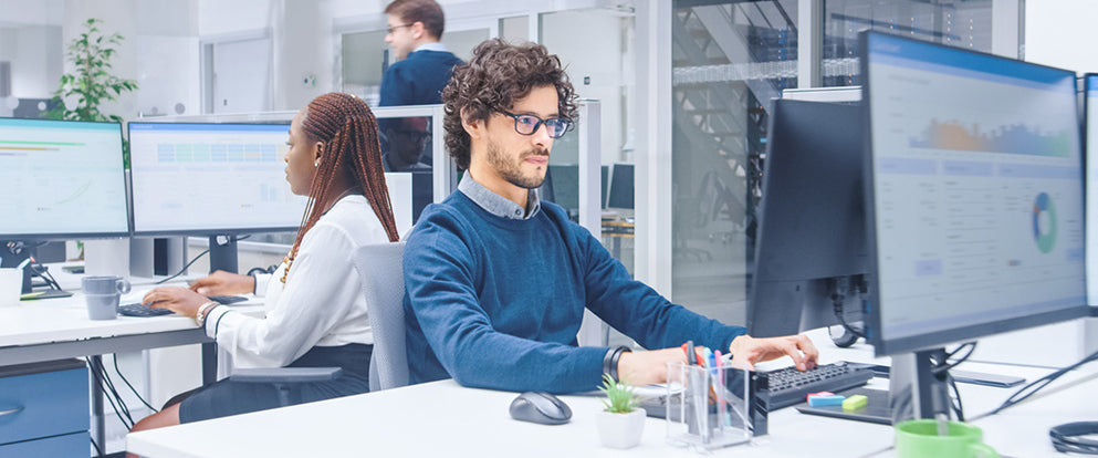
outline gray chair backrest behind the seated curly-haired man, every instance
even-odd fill
[[[355,269],[363,283],[374,354],[369,360],[369,391],[408,384],[405,347],[402,241],[367,244],[355,250]]]

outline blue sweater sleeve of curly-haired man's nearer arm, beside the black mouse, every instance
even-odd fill
[[[594,389],[606,347],[536,342],[499,332],[477,295],[475,253],[458,222],[433,215],[408,239],[407,293],[427,343],[462,386],[573,393]],[[515,304],[521,306],[521,304]]]

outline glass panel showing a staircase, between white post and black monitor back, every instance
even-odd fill
[[[672,300],[744,322],[768,101],[797,85],[797,1],[671,13]]]

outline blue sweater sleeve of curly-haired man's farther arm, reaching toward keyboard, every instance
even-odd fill
[[[687,341],[726,352],[742,326],[724,325],[672,304],[629,272],[586,229],[573,226],[587,262],[587,308],[603,321],[648,350],[668,348]]]

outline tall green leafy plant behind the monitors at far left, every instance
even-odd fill
[[[46,117],[122,122],[121,116],[100,112],[100,106],[117,100],[125,92],[137,90],[137,81],[111,74],[111,58],[122,44],[123,37],[102,32],[98,28],[102,22],[100,19],[88,19],[84,22],[86,30],[69,43],[65,59],[73,64],[73,71],[61,75],[61,87],[53,93],[54,106]],[[72,107],[66,106],[65,101],[72,101]]]

